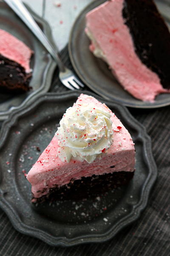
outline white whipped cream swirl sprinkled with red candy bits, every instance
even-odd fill
[[[57,155],[64,162],[72,157],[92,163],[113,143],[111,114],[92,103],[74,104],[67,109],[56,132]]]

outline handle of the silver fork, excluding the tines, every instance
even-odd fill
[[[28,12],[26,7],[20,0],[4,0],[11,7],[11,9],[23,20],[23,22],[28,26],[28,28],[34,33],[42,45],[47,49],[51,54],[54,60],[57,62],[60,71],[64,71],[65,67],[62,64],[62,61],[59,57],[59,54],[56,52],[54,47],[48,41],[48,38],[42,32],[40,27],[37,25],[31,14]]]

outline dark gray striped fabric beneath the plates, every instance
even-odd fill
[[[71,67],[66,48],[62,58]],[[51,91],[64,90],[67,89],[55,78]],[[157,182],[138,221],[108,242],[61,248],[18,233],[0,209],[0,256],[170,255],[170,106],[157,110],[129,110],[147,129],[158,166]]]

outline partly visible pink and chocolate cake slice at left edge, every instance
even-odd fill
[[[24,93],[29,90],[33,51],[19,39],[0,29],[0,93]]]

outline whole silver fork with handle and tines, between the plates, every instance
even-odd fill
[[[39,41],[57,62],[59,67],[59,79],[62,84],[71,90],[84,87],[84,85],[79,81],[75,74],[64,66],[58,52],[56,52],[52,44],[48,41],[48,38],[37,25],[23,3],[20,0],[4,0],[4,2],[6,2],[8,6],[10,6],[11,9],[21,18],[21,20],[26,23],[28,28],[34,33],[34,35],[39,39]]]

